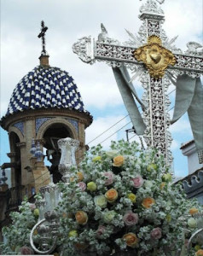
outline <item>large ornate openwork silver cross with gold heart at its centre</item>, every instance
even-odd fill
[[[158,1],[163,3],[164,1]],[[176,38],[166,37],[162,24],[165,15],[154,0],[148,0],[140,9],[142,26],[137,35],[128,32],[130,40],[124,44],[109,38],[102,25],[98,40],[92,37],[80,38],[73,44],[73,52],[86,62],[105,61],[110,67],[131,68],[139,77],[144,93],[142,102],[145,106],[143,119],[147,126],[144,133],[148,147],[154,147],[164,154],[166,166],[171,166],[171,134],[168,131],[170,116],[167,108],[170,105],[166,90],[170,79],[186,73],[193,78],[203,72],[200,44],[189,42],[188,50],[183,54],[173,44]],[[147,67],[147,69],[146,69]]]

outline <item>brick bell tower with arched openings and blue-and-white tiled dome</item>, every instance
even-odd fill
[[[1,126],[9,134],[9,163],[3,163],[3,175],[11,169],[11,188],[6,178],[0,183],[0,226],[20,205],[24,195],[31,198],[40,187],[61,180],[58,164],[61,152],[57,141],[71,137],[79,141],[76,160],[82,159],[85,129],[92,116],[84,103],[72,76],[59,67],[49,65],[49,55],[43,48],[40,64],[27,73],[15,86]],[[49,160],[51,166],[46,166]],[[44,164],[45,162],[45,164]]]

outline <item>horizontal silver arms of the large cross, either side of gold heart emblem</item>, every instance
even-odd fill
[[[142,62],[134,57],[135,47],[120,44],[109,44],[96,41],[95,38],[80,38],[73,44],[73,52],[85,63],[93,64],[95,61],[106,61],[112,67],[119,67],[121,63],[132,66],[143,66]],[[184,73],[195,74],[195,77],[203,73],[203,58],[200,55],[187,55],[173,53],[177,60],[169,69],[176,69]]]

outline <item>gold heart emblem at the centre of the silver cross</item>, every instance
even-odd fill
[[[148,67],[149,74],[154,79],[160,79],[165,74],[169,65],[174,65],[176,59],[170,50],[162,46],[161,39],[157,36],[150,36],[148,44],[138,48],[134,52],[137,61],[143,61]]]

